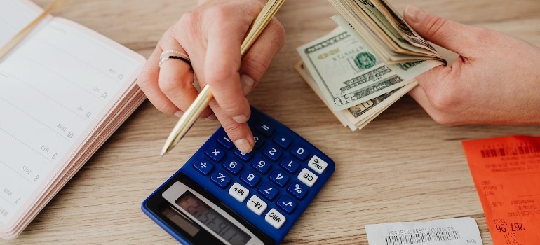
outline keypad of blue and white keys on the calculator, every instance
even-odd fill
[[[323,153],[284,125],[261,117],[250,120],[255,147],[242,154],[223,130],[218,130],[200,151],[204,157],[192,164],[198,174],[210,179],[210,193],[229,200],[233,209],[245,209],[250,221],[257,219],[276,229],[295,222],[307,206],[305,197],[320,176],[326,181],[332,171]],[[330,160],[330,159],[328,159]],[[332,162],[333,165],[333,162]],[[212,188],[212,186],[214,186]],[[228,192],[228,195],[220,193]],[[310,197],[312,199],[313,197]],[[236,203],[236,204],[235,204]],[[302,209],[299,209],[302,206]],[[237,210],[238,211],[238,210]]]

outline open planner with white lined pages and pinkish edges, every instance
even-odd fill
[[[0,46],[42,11],[1,0]],[[17,237],[142,103],[135,79],[144,62],[53,16],[0,59],[1,238]]]

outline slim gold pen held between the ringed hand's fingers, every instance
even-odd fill
[[[269,0],[264,8],[262,8],[261,13],[255,18],[248,30],[248,34],[244,37],[244,41],[240,47],[240,54],[242,57],[251,48],[251,45],[255,43],[255,40],[259,37],[264,28],[266,28],[266,25],[268,25],[270,20],[274,18],[274,15],[276,15],[278,9],[281,8],[284,2],[285,0]],[[206,106],[208,106],[210,100],[212,100],[212,91],[210,90],[210,86],[205,85],[193,104],[191,104],[184,115],[180,117],[180,120],[176,123],[173,131],[170,132],[163,149],[161,149],[161,156],[168,153],[168,151],[175,147],[178,141],[184,137],[184,134],[187,133],[197,120],[198,116],[200,116]]]

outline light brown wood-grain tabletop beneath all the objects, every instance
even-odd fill
[[[44,7],[50,0],[36,0]],[[469,25],[540,45],[538,0],[391,0],[414,4]],[[86,25],[145,57],[195,0],[72,0],[54,15]],[[475,218],[492,244],[461,141],[510,134],[538,135],[540,126],[438,125],[405,96],[363,130],[338,122],[292,68],[296,48],[336,25],[326,0],[290,0],[278,13],[285,46],[248,97],[330,155],[337,169],[283,244],[367,244],[364,225],[438,218]],[[486,43],[489,45],[489,43]],[[450,52],[443,53],[452,57]],[[504,62],[504,61],[501,61]],[[511,82],[511,81],[509,81]],[[159,157],[177,118],[144,102],[17,239],[0,244],[176,244],[140,211],[219,126],[198,121],[176,148]]]

